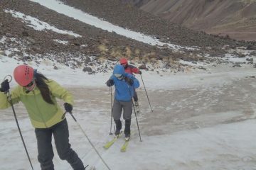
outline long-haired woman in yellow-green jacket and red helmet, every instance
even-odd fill
[[[85,170],[82,160],[70,147],[68,140],[68,123],[63,117],[63,110],[56,98],[64,103],[65,111],[73,110],[73,96],[57,82],[47,79],[43,74],[28,65],[19,65],[14,69],[14,79],[19,86],[11,91],[12,103],[21,101],[26,107],[28,116],[35,128],[38,146],[38,162],[42,170],[54,170],[52,136],[55,140],[60,159],[66,160],[74,170]],[[9,81],[1,83],[0,109],[9,108],[6,92]]]

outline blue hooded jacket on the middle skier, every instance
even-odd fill
[[[114,74],[122,74],[123,79],[119,80]],[[125,80],[124,77],[129,77],[134,81],[132,86],[130,86]],[[132,96],[134,96],[134,89],[139,87],[139,81],[132,76],[132,74],[124,72],[124,67],[120,64],[117,64],[114,67],[112,76],[110,77],[114,81],[114,98],[117,101],[131,101]]]

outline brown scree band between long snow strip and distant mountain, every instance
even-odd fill
[[[138,10],[129,4],[120,4],[120,1],[118,0],[61,1],[82,11],[91,13],[94,16],[104,18],[106,21],[114,23],[117,26],[136,30],[148,35],[156,35],[163,40],[169,38],[169,40],[165,41],[171,41],[178,45],[220,47],[226,44],[235,44],[233,40],[223,40],[222,38],[210,36],[170,23],[162,18],[151,15],[150,13]]]

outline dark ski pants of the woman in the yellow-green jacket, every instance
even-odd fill
[[[74,170],[85,170],[78,154],[70,147],[68,140],[68,123],[66,119],[50,128],[36,128],[35,132],[38,145],[38,162],[40,162],[42,170],[54,170],[54,154],[51,144],[52,135],[60,159],[66,160]]]

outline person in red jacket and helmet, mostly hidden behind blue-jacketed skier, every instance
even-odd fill
[[[128,60],[126,58],[121,58],[119,60],[119,63],[124,67],[124,72],[127,72],[129,74],[134,75],[135,74],[142,74],[142,72],[135,66],[128,64]],[[137,96],[137,92],[134,89],[134,103],[135,106],[138,107],[139,106],[139,102],[138,102],[138,96]]]

